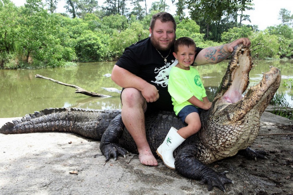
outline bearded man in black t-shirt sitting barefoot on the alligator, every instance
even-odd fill
[[[111,78],[120,85],[122,121],[133,137],[143,165],[157,166],[145,132],[144,114],[156,110],[173,111],[168,93],[168,76],[171,67],[177,64],[174,52],[176,22],[166,12],[155,14],[149,27],[150,38],[127,47],[115,64]],[[233,48],[243,43],[249,46],[248,38],[205,49],[196,48],[195,65],[216,64],[231,55]]]

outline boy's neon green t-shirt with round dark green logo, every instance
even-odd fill
[[[193,95],[200,101],[207,96],[200,75],[193,66],[190,66],[190,70],[183,70],[175,66],[171,69],[168,92],[172,97],[176,115],[183,107],[192,105],[187,100]]]

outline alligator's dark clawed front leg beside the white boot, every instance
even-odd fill
[[[215,172],[207,165],[197,160],[200,149],[197,145],[187,145],[176,153],[175,168],[183,176],[200,180],[200,184],[207,183],[207,189],[212,190],[213,186],[225,191],[225,183],[233,183],[226,177],[226,172]]]

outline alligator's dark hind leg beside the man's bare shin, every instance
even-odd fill
[[[121,114],[119,114],[110,122],[101,138],[100,150],[106,157],[106,161],[109,161],[111,156],[113,156],[114,161],[119,155],[126,158],[127,151],[118,144],[123,129],[124,124],[121,119]]]

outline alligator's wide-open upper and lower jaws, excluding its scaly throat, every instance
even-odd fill
[[[252,67],[249,48],[242,44],[236,46],[212,103],[212,113],[235,112],[233,119],[229,120],[238,121],[252,109],[259,110],[260,114],[265,110],[280,86],[281,73],[276,67],[271,67],[270,71],[263,75],[260,83],[247,90],[243,97],[242,94],[249,84],[249,72]]]

